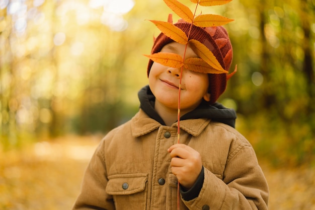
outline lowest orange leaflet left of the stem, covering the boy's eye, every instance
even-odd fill
[[[173,68],[179,68],[183,66],[183,57],[179,54],[171,52],[157,52],[151,55],[144,55],[154,62],[161,63],[165,66],[170,66]]]

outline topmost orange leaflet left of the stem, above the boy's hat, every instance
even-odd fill
[[[190,9],[187,6],[183,5],[177,0],[164,0],[164,2],[167,6],[169,6],[171,10],[173,10],[184,21],[188,23],[193,22],[194,14],[190,11]]]

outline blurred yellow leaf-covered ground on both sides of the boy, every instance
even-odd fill
[[[68,136],[20,151],[0,148],[0,209],[70,209],[100,136]],[[272,168],[269,210],[315,210],[315,168]]]

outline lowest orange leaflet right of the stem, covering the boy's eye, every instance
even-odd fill
[[[184,67],[190,71],[204,74],[224,74],[224,72],[218,71],[206,63],[203,59],[197,57],[187,58],[184,62]]]

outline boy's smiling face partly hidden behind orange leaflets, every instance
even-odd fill
[[[165,45],[161,52],[172,52],[184,57],[185,45],[172,42]],[[185,59],[198,57],[196,53],[187,46]],[[180,84],[180,68],[173,68],[154,62],[149,73],[149,87],[156,101],[166,108],[178,108],[178,92]],[[181,82],[181,111],[195,109],[204,98],[209,101],[208,75],[189,71],[183,68]]]

